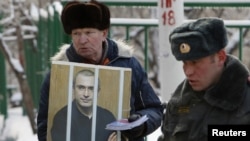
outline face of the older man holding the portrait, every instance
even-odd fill
[[[77,28],[72,30],[71,37],[77,54],[94,62],[102,54],[102,42],[106,35],[107,30]]]

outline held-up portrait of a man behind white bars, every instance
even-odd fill
[[[131,75],[130,68],[52,62],[47,140],[106,138],[107,123],[129,116]]]

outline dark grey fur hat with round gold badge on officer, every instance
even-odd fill
[[[226,47],[227,31],[220,18],[200,18],[175,28],[169,36],[177,60],[195,60]]]

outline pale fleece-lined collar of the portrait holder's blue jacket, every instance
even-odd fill
[[[103,60],[115,60],[116,58],[123,57],[129,58],[133,55],[133,47],[129,46],[122,40],[107,39],[103,45]],[[51,61],[70,61],[70,62],[83,62],[84,58],[79,56],[73,47],[73,44],[64,44],[59,48],[59,51],[50,58]]]

